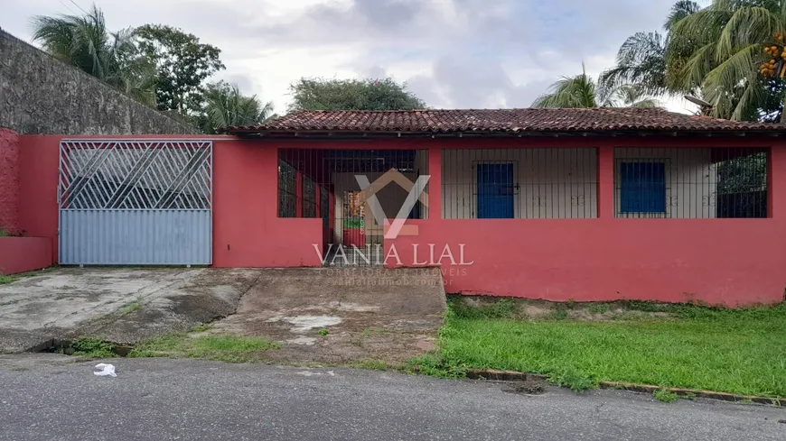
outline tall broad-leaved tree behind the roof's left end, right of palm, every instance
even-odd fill
[[[159,110],[195,115],[202,107],[207,78],[225,69],[220,49],[192,33],[162,24],[136,28],[138,48],[154,63]]]

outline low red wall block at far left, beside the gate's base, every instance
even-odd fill
[[[41,270],[50,265],[48,237],[0,237],[0,274]]]

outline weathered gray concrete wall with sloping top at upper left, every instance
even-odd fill
[[[25,134],[198,133],[0,30],[0,127]]]

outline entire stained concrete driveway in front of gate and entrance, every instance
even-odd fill
[[[397,363],[433,349],[444,310],[437,269],[61,268],[0,286],[0,354],[212,322],[279,342],[270,361]]]

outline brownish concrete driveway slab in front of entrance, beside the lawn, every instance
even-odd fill
[[[438,269],[266,270],[212,332],[276,340],[272,361],[402,363],[435,347]]]

